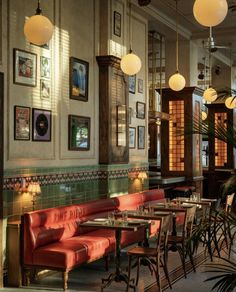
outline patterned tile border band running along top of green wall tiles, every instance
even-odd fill
[[[21,186],[22,181],[24,180],[25,185],[27,186],[30,182],[39,182],[41,186],[46,185],[57,185],[64,183],[75,183],[75,182],[83,182],[83,181],[92,181],[92,180],[107,180],[107,179],[119,179],[128,177],[129,172],[140,172],[140,171],[148,171],[148,166],[142,167],[125,167],[117,168],[109,166],[110,169],[106,170],[98,169],[99,167],[94,167],[94,170],[85,170],[85,169],[73,169],[68,168],[64,169],[64,173],[62,173],[61,169],[58,169],[58,173],[55,173],[55,169],[53,169],[53,173],[39,173],[37,174],[37,170],[34,171],[35,174],[16,174],[9,175],[4,177],[3,190],[14,190],[16,186]],[[42,169],[40,169],[42,170]],[[19,170],[21,173],[22,170]]]

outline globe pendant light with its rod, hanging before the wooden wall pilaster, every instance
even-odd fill
[[[129,54],[123,56],[120,61],[121,70],[127,75],[135,75],[137,74],[142,66],[140,58],[135,55],[131,49],[131,3],[129,2],[129,38],[130,38],[130,50]]]

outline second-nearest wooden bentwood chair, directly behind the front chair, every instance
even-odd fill
[[[196,207],[197,206],[194,205],[192,207],[185,208],[183,211],[181,211],[181,213],[184,212],[184,218],[180,230],[178,230],[177,228],[177,235],[168,236],[168,248],[171,250],[178,251],[182,262],[185,278],[186,278],[185,259],[187,255],[189,256],[193,270],[195,271],[193,251],[191,249],[191,245],[188,244],[188,239],[192,235]]]

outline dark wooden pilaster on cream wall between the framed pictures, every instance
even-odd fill
[[[99,163],[129,162],[128,86],[115,56],[97,57],[99,65]]]

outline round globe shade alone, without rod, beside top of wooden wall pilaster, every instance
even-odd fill
[[[121,70],[127,75],[135,75],[141,69],[142,63],[140,58],[134,53],[125,55],[120,61]]]

